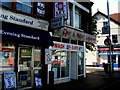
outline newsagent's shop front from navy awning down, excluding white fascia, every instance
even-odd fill
[[[17,89],[41,88],[46,82],[43,78],[47,77],[42,74],[45,48],[53,46],[49,32],[2,22],[0,35],[1,73],[15,72],[14,86]],[[12,84],[5,83],[7,81],[3,80],[3,88],[9,88]]]

